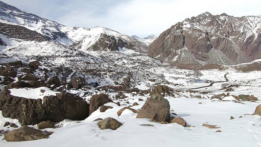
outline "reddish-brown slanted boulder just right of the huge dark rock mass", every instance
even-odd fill
[[[96,111],[100,106],[107,102],[112,102],[112,100],[109,98],[108,95],[105,94],[99,94],[99,95],[94,95],[90,99],[90,111],[89,115],[91,115],[94,111]]]

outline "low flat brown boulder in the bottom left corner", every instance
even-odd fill
[[[21,142],[48,138],[53,132],[41,131],[28,126],[22,126],[4,135],[8,142]]]

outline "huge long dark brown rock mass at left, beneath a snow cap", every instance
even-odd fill
[[[22,125],[34,125],[43,121],[61,122],[64,119],[84,120],[88,117],[89,104],[70,93],[30,99],[10,95],[9,90],[0,93],[0,110],[3,117],[18,119]]]

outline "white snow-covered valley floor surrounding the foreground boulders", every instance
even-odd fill
[[[191,79],[196,77],[186,76],[186,73],[193,73],[188,70],[177,69],[158,69],[164,75],[169,83],[168,86],[174,83],[182,86],[172,86],[172,88],[184,88],[179,95],[175,97],[165,97],[170,103],[170,111],[176,113],[187,121],[191,127],[183,127],[176,123],[160,124],[150,122],[148,119],[136,119],[137,114],[130,110],[124,110],[121,116],[117,116],[119,109],[132,105],[138,102],[138,106],[133,106],[134,109],[140,109],[144,104],[148,95],[132,96],[126,94],[129,98],[119,101],[120,106],[114,103],[108,103],[114,108],[106,110],[104,113],[95,111],[84,121],[65,120],[56,125],[63,127],[56,129],[46,129],[53,131],[48,139],[26,142],[6,142],[0,141],[1,147],[158,147],[158,146],[177,146],[177,147],[261,147],[261,116],[252,116],[255,108],[261,102],[261,72],[254,71],[249,73],[239,73],[233,70],[227,71],[201,71],[203,75],[198,79],[207,79],[212,81],[222,81],[214,83],[213,86],[207,88],[194,89],[198,91],[195,94],[187,92],[189,88],[196,88],[209,85],[210,83],[193,83]],[[157,70],[155,70],[157,72]],[[183,74],[181,74],[183,73]],[[226,81],[224,74],[227,74],[229,81]],[[239,87],[232,87],[234,91],[229,93],[233,95],[246,94],[254,95],[259,98],[257,102],[241,101],[214,101],[210,99],[212,96],[222,94],[225,90],[220,90],[224,85],[238,84]],[[139,85],[141,88],[146,89]],[[48,89],[46,89],[48,91]],[[208,92],[202,94],[200,92]],[[39,93],[39,90],[36,93]],[[79,91],[71,91],[78,93]],[[95,93],[99,93],[96,91]],[[191,96],[200,95],[202,98],[193,98]],[[115,94],[110,94],[112,98]],[[90,96],[86,96],[87,100]],[[144,101],[139,101],[142,98]],[[231,97],[224,98],[226,100]],[[114,99],[115,102],[117,100]],[[126,101],[129,103],[127,104]],[[230,120],[233,116],[235,119]],[[242,116],[242,118],[239,118]],[[97,118],[105,119],[113,117],[123,123],[117,130],[101,130],[96,123],[93,122]],[[3,127],[4,122],[14,122],[0,116],[0,129],[12,128]],[[210,129],[202,126],[203,123],[217,125],[220,128]],[[20,125],[19,123],[17,123]],[[152,124],[154,126],[142,126],[140,124]],[[36,126],[33,126],[36,127]],[[221,132],[215,132],[220,130]],[[0,137],[0,140],[3,136]]]

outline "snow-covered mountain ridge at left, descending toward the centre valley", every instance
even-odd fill
[[[0,23],[24,26],[29,30],[36,31],[46,36],[50,41],[56,41],[65,46],[76,47],[83,51],[105,50],[106,48],[108,50],[117,50],[118,47],[128,47],[129,49],[144,51],[147,48],[147,45],[143,42],[132,39],[127,35],[120,34],[109,28],[68,27],[41,18],[35,14],[25,12],[2,1],[0,1]],[[111,39],[106,40],[108,44],[100,46],[98,42],[103,41],[103,38],[100,37],[103,37],[104,35],[109,36]],[[95,46],[95,44],[98,44],[98,47],[96,46],[95,49],[89,49],[90,47]],[[111,44],[116,45],[112,46]]]

